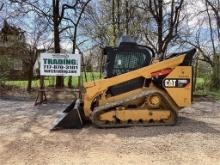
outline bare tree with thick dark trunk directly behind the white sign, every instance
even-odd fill
[[[67,9],[75,10],[76,6],[80,2],[80,0],[76,0],[75,2],[62,2],[60,0],[52,0],[52,4],[48,1],[43,0],[41,2],[34,0],[10,0],[13,3],[17,3],[22,8],[26,10],[26,12],[34,12],[39,16],[43,16],[48,24],[53,29],[54,35],[54,51],[55,53],[60,53],[60,35],[66,29],[62,29],[62,21],[65,18],[65,11]],[[64,86],[64,78],[62,76],[57,76],[56,78],[56,87],[60,88]]]

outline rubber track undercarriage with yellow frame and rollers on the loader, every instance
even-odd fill
[[[164,92],[143,90],[136,96],[96,107],[91,121],[99,128],[175,125],[177,111],[175,103]]]

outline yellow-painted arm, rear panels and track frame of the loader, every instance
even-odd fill
[[[111,86],[143,77],[145,79],[151,79],[152,73],[157,71],[162,71],[164,69],[171,69],[172,71],[166,78],[172,79],[189,79],[189,84],[184,88],[176,88],[176,87],[164,87],[166,91],[162,91],[168,93],[172,102],[176,104],[178,109],[191,105],[191,88],[192,88],[192,67],[191,66],[179,66],[185,58],[185,55],[180,55],[165,61],[157,62],[152,65],[119,75],[108,79],[97,80],[94,82],[89,82],[84,84],[84,88],[86,90],[84,95],[84,113],[86,117],[91,117],[92,110],[91,106],[96,97],[99,97],[99,106],[105,105],[108,103],[112,103],[117,100],[123,100],[132,95],[137,95],[143,90],[151,90],[157,89],[157,87],[152,83],[149,87],[144,87],[140,89],[136,89],[133,91],[129,91],[126,93],[122,93],[116,96],[109,96],[106,94],[106,91]],[[170,86],[172,86],[172,81],[170,81]],[[157,89],[158,91],[160,89]],[[138,100],[137,100],[138,101]],[[140,110],[138,110],[140,109]],[[103,114],[101,118],[108,118],[108,116],[114,116],[115,113],[121,116],[123,120],[127,120],[128,118],[138,118],[136,116],[143,116],[144,111],[141,108],[130,110],[129,112],[122,110],[116,110],[114,112],[108,112]],[[152,112],[155,118],[157,116],[169,116],[169,111],[163,110],[163,112]],[[109,117],[110,118],[110,117]],[[148,118],[146,115],[145,118]],[[152,115],[151,115],[152,118]],[[139,118],[138,118],[139,119]],[[159,119],[159,118],[158,118]]]

